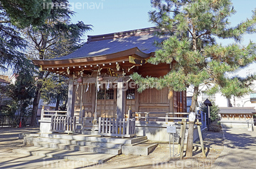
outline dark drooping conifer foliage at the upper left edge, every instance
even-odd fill
[[[12,67],[14,72],[18,72],[31,69],[33,64],[21,52],[26,48],[26,41],[21,37],[18,28],[11,23],[11,18],[14,16],[9,12],[17,11],[11,11],[9,5],[14,6],[14,4],[11,4],[11,1],[0,1],[0,69],[6,71]],[[18,16],[16,19],[19,19]]]

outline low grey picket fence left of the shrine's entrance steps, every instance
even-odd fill
[[[75,133],[75,119],[76,117],[51,117],[51,132],[60,133]]]

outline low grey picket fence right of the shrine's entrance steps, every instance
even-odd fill
[[[99,133],[102,136],[135,136],[135,119],[99,118]]]

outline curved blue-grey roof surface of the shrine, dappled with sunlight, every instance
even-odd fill
[[[88,36],[87,43],[80,49],[72,54],[53,60],[98,57],[122,52],[134,47],[137,47],[145,54],[150,54],[157,49],[156,45],[154,45],[154,41],[164,40],[164,37],[156,37],[154,30],[155,28],[145,28],[142,30],[129,30],[122,33]]]

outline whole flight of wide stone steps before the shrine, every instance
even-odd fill
[[[122,139],[84,134],[25,134],[24,144],[32,147],[14,149],[13,152],[53,158],[80,159],[80,161],[81,158],[73,157],[75,152],[80,155],[82,153],[111,155],[99,160],[106,161],[121,153],[147,156],[157,146],[157,144],[148,144],[147,141],[146,136]],[[70,153],[73,155],[69,155]]]

